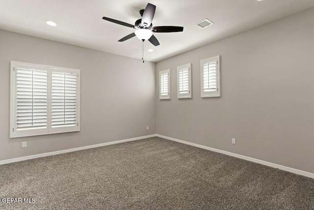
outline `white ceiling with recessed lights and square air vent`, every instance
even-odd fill
[[[156,5],[153,26],[183,26],[183,32],[155,33],[145,41],[145,60],[159,61],[314,6],[314,0],[0,0],[0,29],[141,59],[141,41],[118,40],[134,29],[147,3]],[[201,29],[208,18],[214,25]],[[46,21],[57,23],[56,27]],[[154,52],[147,52],[154,49]]]

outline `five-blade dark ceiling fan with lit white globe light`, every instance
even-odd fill
[[[104,20],[110,21],[112,23],[120,24],[122,26],[130,27],[135,29],[135,31],[122,39],[118,40],[119,42],[123,42],[128,40],[134,36],[137,36],[143,42],[145,40],[150,41],[153,45],[158,46],[159,42],[157,38],[153,35],[153,32],[162,33],[162,32],[181,32],[183,31],[183,27],[179,26],[155,26],[153,27],[152,21],[155,15],[156,6],[154,4],[148,3],[145,9],[141,9],[139,14],[142,16],[142,19],[138,19],[135,21],[134,25],[114,20],[111,18],[103,17]]]

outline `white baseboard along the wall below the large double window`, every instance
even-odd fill
[[[91,149],[91,148],[103,147],[103,146],[119,144],[119,143],[123,143],[123,142],[131,142],[131,141],[146,139],[146,138],[155,137],[155,136],[156,136],[156,134],[152,134],[152,135],[148,135],[148,136],[140,136],[140,137],[135,137],[135,138],[131,138],[131,139],[123,139],[123,140],[119,140],[119,141],[106,142],[106,143],[102,143],[102,144],[90,145],[90,146],[73,148],[73,149],[68,149],[68,150],[52,151],[52,152],[34,154],[34,155],[29,155],[29,156],[24,156],[24,157],[17,157],[17,158],[12,158],[12,159],[7,159],[7,160],[0,160],[0,165],[19,162],[19,161],[23,161],[23,160],[34,159],[34,158],[38,158],[38,157],[46,157],[46,156],[51,156],[51,155],[55,155],[55,154],[62,154],[62,153],[67,153],[67,152],[71,152],[71,151],[87,150],[87,149]]]

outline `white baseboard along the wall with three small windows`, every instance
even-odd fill
[[[255,158],[252,158],[252,157],[247,157],[247,156],[244,156],[244,155],[241,155],[241,154],[232,153],[232,152],[229,152],[229,151],[218,150],[218,149],[206,147],[206,146],[203,146],[203,145],[198,145],[198,144],[182,141],[180,139],[175,139],[175,138],[171,138],[171,137],[168,137],[168,136],[163,136],[163,135],[159,135],[159,134],[156,134],[156,136],[160,137],[160,138],[163,138],[163,139],[168,139],[168,140],[171,140],[171,141],[179,142],[179,143],[182,143],[182,144],[186,144],[186,145],[202,148],[202,149],[205,149],[205,150],[219,152],[219,153],[222,153],[222,154],[226,154],[226,155],[229,155],[229,156],[233,156],[233,157],[237,157],[237,158],[240,158],[240,159],[248,160],[248,161],[251,161],[251,162],[260,163],[262,165],[270,166],[270,167],[273,167],[273,168],[278,168],[278,169],[281,169],[281,170],[284,170],[284,171],[288,171],[288,172],[291,172],[291,173],[294,173],[294,174],[298,174],[298,175],[302,175],[304,177],[309,177],[309,178],[314,179],[314,174],[312,174],[310,172],[301,171],[301,170],[294,169],[294,168],[289,168],[287,166],[282,166],[282,165],[278,165],[278,164],[275,164],[275,163],[266,162],[266,161],[255,159]]]

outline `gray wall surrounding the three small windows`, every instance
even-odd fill
[[[157,62],[171,100],[157,85],[156,132],[314,173],[313,20],[311,8]],[[217,55],[222,96],[201,98],[200,60]],[[193,98],[179,100],[176,67],[189,62]]]

